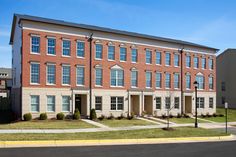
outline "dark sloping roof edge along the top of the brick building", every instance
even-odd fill
[[[208,47],[208,46],[204,46],[204,45],[200,45],[200,44],[195,44],[195,43],[191,43],[191,42],[187,42],[187,41],[182,41],[182,40],[163,38],[163,37],[157,37],[157,36],[146,35],[146,34],[141,34],[141,33],[128,32],[128,31],[116,30],[116,29],[111,29],[111,28],[86,25],[86,24],[78,24],[78,23],[66,22],[66,21],[62,21],[62,20],[54,20],[54,19],[49,19],[49,18],[42,18],[42,17],[21,15],[21,14],[14,14],[14,16],[13,16],[10,44],[13,43],[14,29],[15,29],[17,18],[19,18],[19,22],[21,20],[27,20],[27,21],[42,22],[42,23],[48,23],[48,24],[56,24],[56,25],[61,25],[61,26],[69,26],[69,27],[82,28],[82,29],[87,29],[87,30],[101,31],[101,32],[106,32],[106,33],[115,33],[115,34],[121,34],[121,35],[133,36],[133,37],[159,40],[159,41],[164,41],[164,42],[171,42],[171,43],[176,43],[176,44],[181,44],[181,45],[190,45],[190,46],[201,47],[201,48],[219,51],[219,49],[216,49],[216,48],[212,48],[212,47]]]

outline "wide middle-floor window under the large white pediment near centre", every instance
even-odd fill
[[[111,86],[124,86],[124,71],[120,69],[111,70]]]

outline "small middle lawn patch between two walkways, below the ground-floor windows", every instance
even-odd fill
[[[144,120],[139,120],[139,119],[132,119],[132,120],[127,120],[127,119],[114,119],[114,120],[107,120],[104,119],[102,121],[98,121],[99,123],[102,123],[104,125],[107,125],[109,127],[126,127],[126,126],[142,126],[142,125],[157,125],[152,122],[147,122]]]

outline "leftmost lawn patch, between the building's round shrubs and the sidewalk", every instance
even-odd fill
[[[96,126],[81,120],[32,120],[0,124],[0,129],[81,129],[94,127]]]

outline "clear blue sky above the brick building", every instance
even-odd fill
[[[219,48],[236,47],[234,0],[0,0],[0,67],[11,67],[14,13],[92,24]]]

